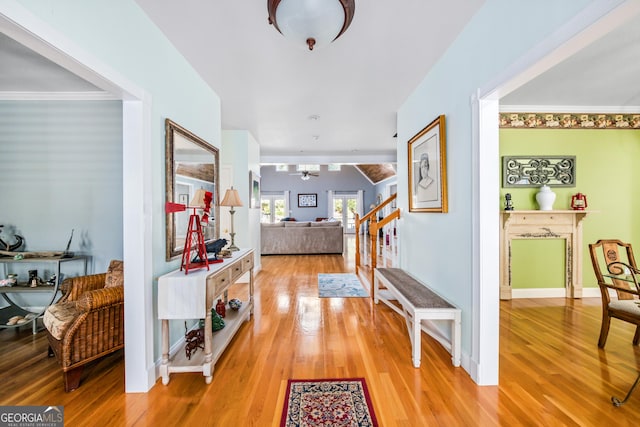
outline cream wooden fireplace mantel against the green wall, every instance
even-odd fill
[[[564,239],[567,298],[582,298],[582,220],[588,211],[503,211],[500,217],[500,299],[511,299],[511,241]]]

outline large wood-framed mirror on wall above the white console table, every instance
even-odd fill
[[[166,201],[188,205],[195,191],[203,188],[213,193],[211,216],[203,227],[205,243],[220,235],[219,156],[218,149],[177,123],[165,120]],[[193,211],[166,214],[167,261],[182,255]]]

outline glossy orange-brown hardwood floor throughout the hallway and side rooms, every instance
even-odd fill
[[[413,368],[404,320],[367,298],[319,299],[317,274],[353,271],[352,255],[263,257],[255,315],[202,375],[172,374],[125,394],[122,353],[85,369],[64,393],[42,332],[0,331],[0,405],[64,405],[67,426],[278,425],[289,378],[364,377],[381,426],[637,426],[640,369],[633,327],[613,321],[605,350],[597,299],[500,305],[500,385],[479,387],[422,336]],[[233,295],[231,295],[233,296]],[[136,351],[128,348],[126,351]]]

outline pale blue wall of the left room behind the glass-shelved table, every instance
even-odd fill
[[[69,249],[91,256],[89,272],[122,259],[122,103],[0,101],[0,200],[0,224],[25,238],[20,250],[62,251],[74,230]],[[48,279],[55,270],[45,267],[28,266]],[[62,273],[81,267],[65,263]],[[24,280],[26,269],[13,272]]]

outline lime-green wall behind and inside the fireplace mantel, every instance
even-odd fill
[[[571,196],[584,193],[593,211],[583,222],[582,279],[596,287],[589,243],[620,239],[640,250],[640,130],[500,129],[500,156],[576,156],[576,186],[553,187],[553,209],[571,209]],[[500,159],[502,165],[502,159]],[[502,174],[500,175],[502,179]],[[502,186],[502,183],[500,183]],[[501,188],[511,193],[516,210],[538,209],[537,188]],[[513,288],[564,287],[563,240],[516,240],[512,244]]]

